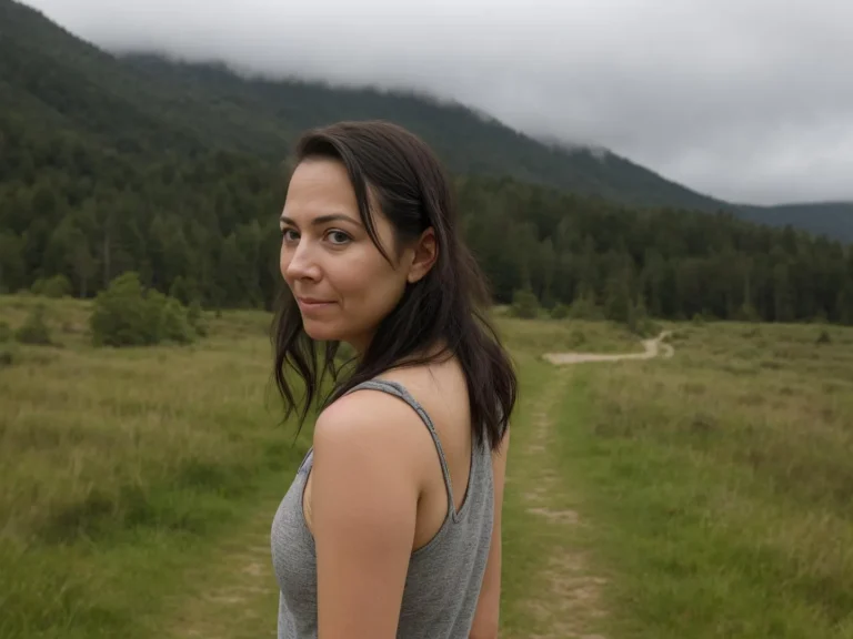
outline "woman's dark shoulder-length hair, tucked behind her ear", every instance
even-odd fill
[[[295,164],[318,156],[343,163],[361,221],[387,260],[373,225],[371,196],[394,229],[398,246],[432,227],[438,256],[424,277],[407,285],[345,379],[339,379],[335,365],[339,343],[324,343],[321,364],[314,341],[303,329],[299,307],[284,287],[273,325],[273,344],[274,377],[288,416],[297,406],[288,367],[305,386],[301,410],[304,420],[328,373],[334,386],[325,405],[391,368],[434,362],[442,355],[455,356],[468,381],[474,439],[496,448],[515,404],[518,379],[486,318],[489,290],[460,237],[450,180],[438,158],[411,132],[382,121],[339,122],[311,130],[299,140],[295,155]],[[445,345],[442,353],[422,355],[439,343]]]

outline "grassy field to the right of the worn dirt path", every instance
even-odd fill
[[[560,458],[609,636],[853,637],[853,331],[823,329],[680,327],[673,359],[578,369]]]

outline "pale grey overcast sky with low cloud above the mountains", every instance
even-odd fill
[[[108,49],[415,87],[698,191],[853,200],[850,0],[24,0]]]

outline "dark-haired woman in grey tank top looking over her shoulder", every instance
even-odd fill
[[[304,418],[338,345],[357,355],[273,520],[279,637],[496,637],[516,378],[448,178],[385,122],[311,131],[297,151],[274,335],[289,409],[294,378]]]

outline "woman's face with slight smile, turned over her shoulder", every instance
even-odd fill
[[[281,274],[295,297],[305,333],[363,351],[377,326],[418,276],[417,251],[395,250],[393,229],[373,214],[383,257],[361,223],[347,169],[310,159],[295,169],[281,215]]]

